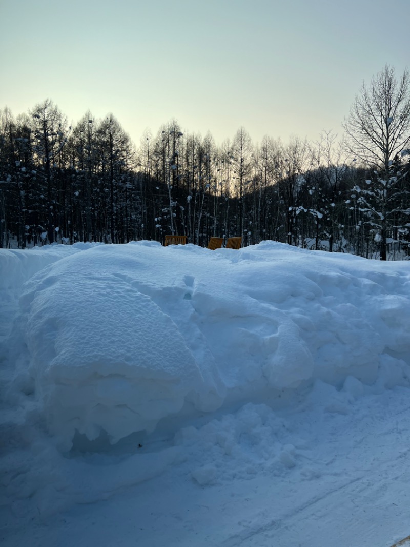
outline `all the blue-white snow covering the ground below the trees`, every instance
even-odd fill
[[[410,533],[410,263],[263,242],[0,251],[5,547]]]

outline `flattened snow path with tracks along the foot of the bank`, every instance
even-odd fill
[[[408,389],[365,395],[348,414],[326,411],[321,402],[312,393],[300,408],[276,410],[285,447],[279,459],[258,459],[257,447],[242,440],[257,473],[248,479],[226,478],[226,455],[215,461],[210,454],[204,467],[224,473],[215,484],[198,485],[186,468],[193,445],[162,475],[40,519],[34,529],[8,529],[2,545],[389,547],[410,526]]]

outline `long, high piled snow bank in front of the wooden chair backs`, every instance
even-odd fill
[[[408,263],[274,242],[86,246],[21,296],[40,415],[68,449],[75,430],[115,443],[318,380],[352,393],[407,385],[409,289]]]

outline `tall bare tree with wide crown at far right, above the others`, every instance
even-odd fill
[[[403,214],[401,157],[410,146],[410,74],[399,80],[394,67],[386,65],[370,85],[362,84],[344,121],[347,144],[369,172],[364,184],[356,184],[356,206],[364,213],[370,233],[380,245],[380,259],[386,260],[389,232],[397,231]],[[399,210],[397,209],[399,207]],[[401,220],[400,220],[401,219]]]

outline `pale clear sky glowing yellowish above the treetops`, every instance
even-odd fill
[[[218,144],[341,135],[362,82],[410,64],[410,0],[0,0],[0,21],[0,108],[112,112],[137,146],[173,118]]]

